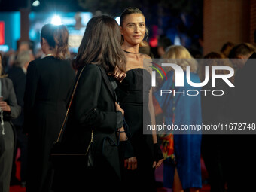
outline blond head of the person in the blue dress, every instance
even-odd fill
[[[172,59],[172,62],[181,66],[181,68],[186,71],[187,66],[190,66],[190,72],[197,72],[197,62],[189,51],[181,45],[172,45],[163,54],[163,59]],[[167,71],[172,70],[172,68],[167,69]]]

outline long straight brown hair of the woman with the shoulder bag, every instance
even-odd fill
[[[116,66],[126,72],[126,57],[120,39],[119,26],[112,17],[93,17],[87,23],[73,67],[78,69],[93,63],[102,65],[106,72],[114,72]]]

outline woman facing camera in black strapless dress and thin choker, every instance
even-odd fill
[[[162,163],[163,154],[157,144],[157,135],[143,134],[143,115],[148,120],[148,124],[154,124],[155,120],[151,69],[143,65],[143,59],[151,59],[151,57],[139,53],[139,46],[143,46],[142,41],[147,32],[145,17],[139,8],[126,8],[123,11],[120,16],[120,31],[122,50],[127,59],[127,73],[122,83],[118,84],[116,91],[131,134],[133,153],[126,155],[132,155],[136,161],[136,163],[125,161],[123,190],[156,191],[154,168]],[[143,87],[143,76],[147,81],[145,87]]]

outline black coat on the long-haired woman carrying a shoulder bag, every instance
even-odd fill
[[[78,70],[78,75],[80,72],[81,69]],[[93,172],[82,171],[85,177],[83,177],[84,181],[81,181],[83,182],[81,187],[87,188],[96,183],[94,190],[100,187],[117,186],[117,182],[120,181],[120,162],[118,148],[115,145],[117,144],[116,129],[122,126],[122,119],[120,111],[117,112],[115,109],[114,96],[105,84],[99,67],[88,64],[78,81],[69,111],[69,120],[62,138],[62,143],[74,150],[87,148],[91,130],[94,130],[93,147],[96,155],[96,168]],[[67,175],[65,175],[64,172],[64,179],[72,175],[71,180],[68,179],[69,182],[72,181],[71,187],[79,186],[81,178],[79,172],[83,170],[84,165],[77,166],[79,168],[72,169],[72,173],[66,172]],[[93,184],[90,181],[86,183],[88,178],[92,179]],[[108,186],[104,183],[108,183]]]

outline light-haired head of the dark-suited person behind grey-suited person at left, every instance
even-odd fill
[[[16,62],[14,63],[14,66],[21,67],[23,69],[27,69],[29,66],[29,62],[34,60],[34,56],[29,50],[24,50],[17,55]]]

